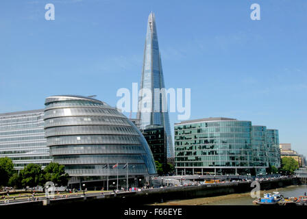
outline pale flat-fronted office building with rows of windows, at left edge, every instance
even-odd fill
[[[51,162],[43,118],[44,110],[0,114],[0,157],[10,157],[16,170]]]

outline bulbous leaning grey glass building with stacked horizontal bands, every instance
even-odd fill
[[[156,174],[143,135],[126,116],[102,101],[49,96],[44,120],[53,162],[65,166],[73,177],[71,183]]]

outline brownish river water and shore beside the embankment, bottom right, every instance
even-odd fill
[[[286,188],[261,191],[260,197],[266,192],[280,192],[284,197],[298,197],[307,192],[307,185],[291,185]],[[253,205],[250,192],[242,194],[228,194],[225,196],[215,196],[207,198],[193,198],[186,200],[167,201],[165,203],[155,203],[153,205]]]

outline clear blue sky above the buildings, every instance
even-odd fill
[[[165,85],[191,88],[191,119],[251,120],[307,155],[305,0],[1,0],[0,113],[41,109],[56,94],[115,106],[119,88],[140,83],[151,11]]]

